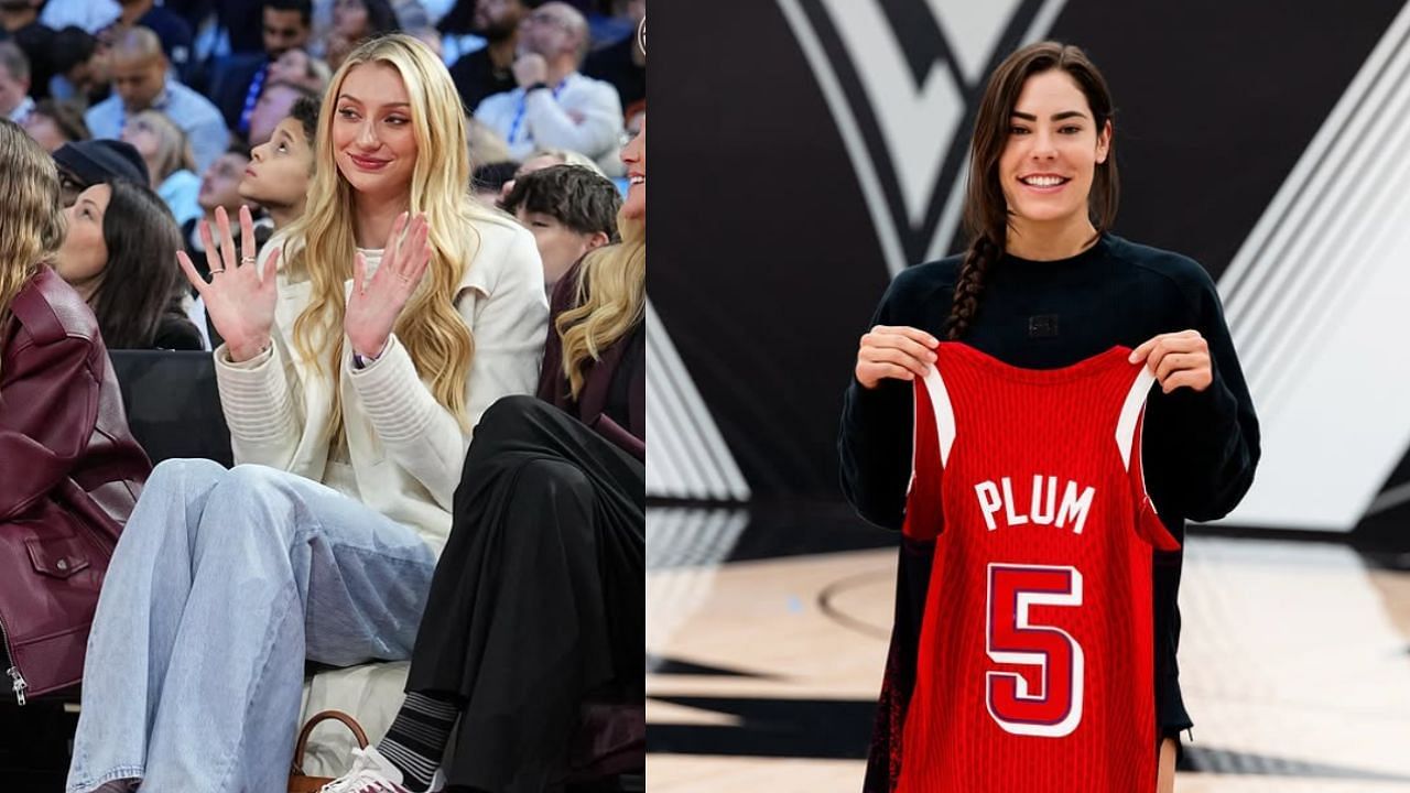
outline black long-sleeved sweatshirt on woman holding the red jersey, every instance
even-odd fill
[[[959,268],[960,257],[908,268],[891,282],[871,325],[908,325],[945,339]],[[1221,518],[1238,504],[1259,457],[1258,418],[1204,268],[1111,234],[1059,261],[1005,254],[990,265],[979,312],[962,340],[1012,365],[1055,368],[1112,344],[1136,347],[1187,329],[1208,340],[1214,381],[1203,392],[1152,389],[1142,457],[1151,498],[1183,543],[1186,519]],[[842,487],[863,518],[888,529],[900,529],[904,519],[911,423],[909,382],[884,380],[869,391],[853,378],[838,437]],[[1180,552],[1155,552],[1153,559],[1156,706],[1166,734],[1190,724],[1175,665],[1180,560]]]

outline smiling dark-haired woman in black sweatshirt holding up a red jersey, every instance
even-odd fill
[[[1218,293],[1197,262],[1111,233],[1118,192],[1112,133],[1105,80],[1076,47],[1029,45],[990,78],[970,147],[964,205],[970,244],[960,255],[897,277],[862,337],[846,392],[839,433],[843,487],[869,521],[902,528],[912,381],[935,365],[942,339],[1034,370],[1066,367],[1112,346],[1131,347],[1131,364],[1145,363],[1159,384],[1146,402],[1145,481],[1166,529],[1182,542],[1186,519],[1220,518],[1248,490],[1259,457],[1258,419]],[[869,792],[914,779],[904,737],[908,715],[928,707],[912,701],[915,682],[929,672],[916,669],[922,625],[945,619],[926,612],[935,543],[902,539]],[[1159,751],[1159,783],[1166,790],[1173,785],[1177,735],[1191,724],[1176,667],[1180,553],[1152,552],[1152,564],[1153,603],[1131,608],[1153,608],[1156,724],[1151,730],[1134,718],[1131,730],[1155,737],[1151,756]],[[984,708],[986,680],[974,690]],[[1034,786],[1025,790],[1053,783],[1041,768],[1031,773]]]

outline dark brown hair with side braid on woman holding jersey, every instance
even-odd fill
[[[945,323],[945,337],[960,339],[969,332],[979,313],[979,298],[984,291],[988,268],[1004,255],[1008,238],[1008,203],[998,178],[998,159],[1008,143],[1010,117],[1018,104],[1018,95],[1028,78],[1062,69],[1077,82],[1087,97],[1097,128],[1111,121],[1114,107],[1107,80],[1087,54],[1070,44],[1041,41],[1018,49],[994,69],[984,87],[974,116],[974,135],[970,138],[970,167],[964,192],[964,231],[969,247],[955,281],[950,316]],[[1114,147],[1114,144],[1111,144]],[[1098,162],[1087,196],[1087,213],[1097,233],[1111,229],[1117,217],[1120,186],[1114,148]]]

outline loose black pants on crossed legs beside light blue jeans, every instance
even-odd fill
[[[585,696],[644,691],[646,468],[530,396],[475,428],[409,691],[461,704],[451,786],[561,786]]]

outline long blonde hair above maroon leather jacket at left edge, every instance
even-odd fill
[[[10,325],[10,303],[24,285],[52,264],[68,223],[59,202],[59,171],[18,124],[0,119],[0,336]]]

